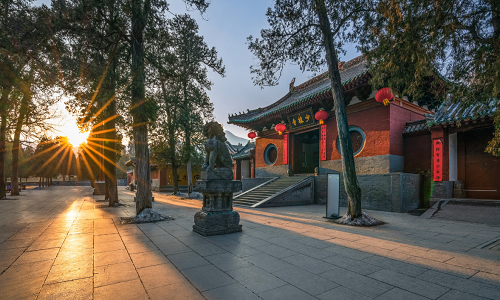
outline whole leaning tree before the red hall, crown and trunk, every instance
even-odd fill
[[[328,66],[348,198],[344,219],[358,219],[361,223],[367,218],[363,218],[361,211],[361,189],[354,166],[337,55],[346,42],[358,38],[359,18],[371,5],[371,1],[357,0],[277,0],[274,8],[266,13],[270,28],[261,31],[261,39],[248,38],[248,48],[259,60],[259,64],[251,67],[256,85],[278,84],[287,62],[297,63],[302,71],[318,71],[325,64]]]

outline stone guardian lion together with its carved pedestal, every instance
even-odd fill
[[[224,143],[226,135],[217,122],[205,125],[205,163],[196,191],[203,194],[203,207],[194,216],[193,231],[203,236],[240,232],[240,215],[233,210],[233,193],[241,181],[233,180],[233,160]]]

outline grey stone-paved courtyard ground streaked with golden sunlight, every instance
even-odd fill
[[[369,212],[352,228],[324,206],[238,209],[243,232],[192,232],[198,200],[155,194],[173,221],[120,225],[87,187],[0,200],[1,299],[500,299],[500,228]],[[120,198],[133,205],[132,193]]]

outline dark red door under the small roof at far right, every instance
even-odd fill
[[[464,132],[467,198],[500,199],[500,158],[484,152],[493,128]]]

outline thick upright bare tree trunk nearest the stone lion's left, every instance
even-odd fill
[[[137,171],[136,213],[145,208],[152,208],[151,169],[148,147],[148,112],[145,105],[145,72],[144,72],[144,41],[143,32],[147,13],[151,3],[146,1],[142,7],[142,0],[132,1],[132,117],[134,126],[134,147]],[[149,6],[147,6],[149,5]]]

